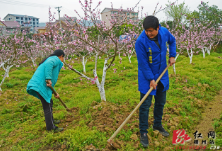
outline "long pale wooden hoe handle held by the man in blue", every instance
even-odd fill
[[[159,78],[156,80],[156,84],[160,81],[162,76],[165,74],[167,69],[170,67],[170,64],[165,68],[165,70],[162,72],[162,74],[159,76]],[[125,119],[125,121],[119,126],[119,128],[113,133],[113,135],[107,140],[108,143],[111,143],[111,141],[116,137],[116,135],[120,132],[120,130],[123,128],[123,126],[129,121],[129,119],[132,117],[132,115],[136,112],[136,110],[141,106],[141,104],[145,101],[145,99],[148,97],[150,92],[153,90],[153,87],[149,89],[149,91],[146,93],[146,95],[143,97],[143,99],[140,101],[140,103],[136,106],[136,108],[130,113],[130,115]]]

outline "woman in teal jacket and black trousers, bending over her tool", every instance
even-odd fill
[[[59,72],[63,66],[65,53],[58,49],[49,55],[47,58],[43,59],[39,63],[39,67],[35,71],[31,80],[27,85],[27,92],[34,97],[38,98],[42,102],[45,122],[47,130],[54,130],[55,132],[62,131],[63,128],[58,128],[54,125],[58,124],[60,121],[54,121],[52,114],[53,100],[52,90],[48,86],[54,87],[57,82]],[[47,83],[46,83],[47,81]],[[56,98],[59,95],[55,95]]]

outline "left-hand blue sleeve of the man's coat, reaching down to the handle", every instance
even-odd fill
[[[142,71],[144,77],[148,81],[154,80],[154,75],[148,64],[149,58],[144,45],[140,41],[136,41],[135,49],[136,49],[139,70]]]

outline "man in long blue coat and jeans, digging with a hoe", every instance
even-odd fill
[[[148,115],[153,95],[155,97],[153,130],[158,130],[163,136],[169,136],[161,123],[166,103],[166,91],[169,89],[168,71],[163,75],[158,85],[155,81],[167,67],[167,43],[170,49],[169,63],[170,65],[175,63],[176,40],[166,28],[159,25],[159,20],[155,16],[147,16],[143,21],[143,28],[135,48],[138,60],[140,100],[150,87],[154,88],[139,109],[140,143],[143,147],[148,147]]]

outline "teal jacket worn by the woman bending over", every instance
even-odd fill
[[[55,86],[59,72],[63,66],[63,63],[57,56],[52,56],[46,59],[35,71],[31,80],[27,85],[27,92],[35,97],[38,97],[38,92],[46,102],[50,103],[52,98],[52,90],[47,87],[46,80],[52,81],[52,87]]]

